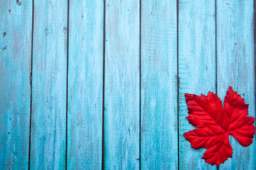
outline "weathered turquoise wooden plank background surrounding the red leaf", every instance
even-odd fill
[[[0,169],[216,169],[184,93],[255,117],[252,0],[1,0]],[[254,139],[255,140],[255,139]],[[256,169],[230,137],[220,169]]]

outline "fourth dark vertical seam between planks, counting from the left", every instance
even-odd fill
[[[140,0],[140,150],[139,150],[139,164],[141,169],[141,0]]]

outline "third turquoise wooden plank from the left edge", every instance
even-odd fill
[[[67,169],[101,169],[103,5],[70,1]]]

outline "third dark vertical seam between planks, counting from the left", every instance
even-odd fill
[[[105,133],[104,133],[104,120],[105,120],[105,41],[106,41],[106,0],[103,1],[103,69],[102,69],[102,143],[101,143],[101,169],[105,169]]]

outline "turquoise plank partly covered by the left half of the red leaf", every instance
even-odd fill
[[[215,1],[179,1],[179,168],[216,169],[201,159],[206,149],[193,149],[184,132],[189,124],[184,94],[216,93]]]

